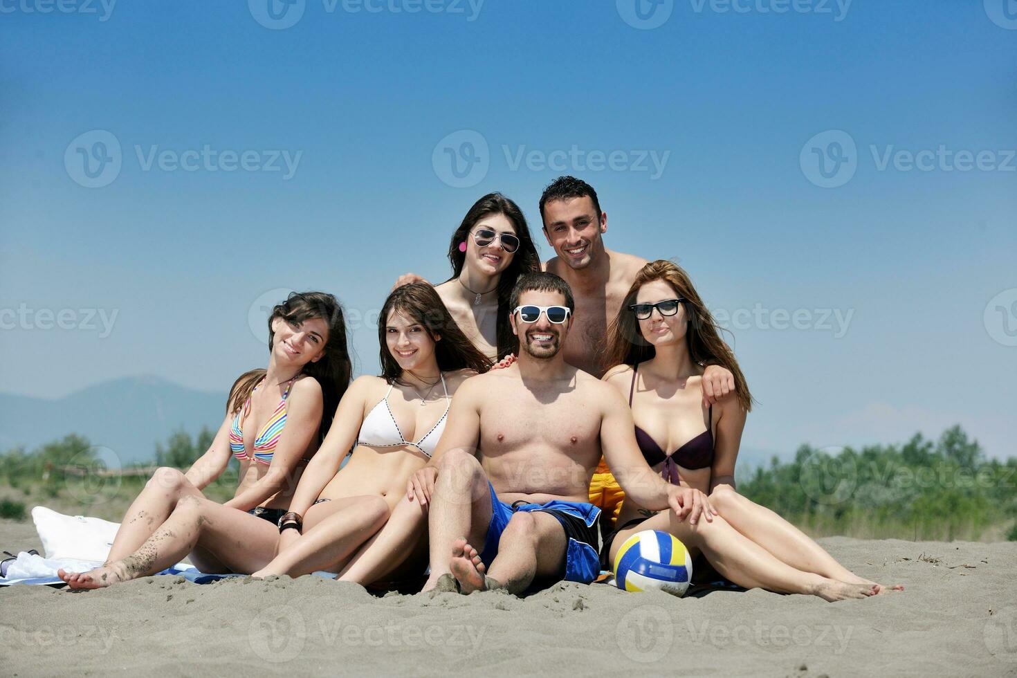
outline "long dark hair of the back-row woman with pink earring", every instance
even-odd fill
[[[508,322],[508,296],[512,289],[516,287],[516,281],[523,273],[540,270],[540,255],[537,254],[537,246],[533,244],[530,237],[530,227],[526,225],[526,218],[523,210],[519,208],[511,199],[501,193],[488,193],[473,203],[463,223],[452,235],[452,242],[448,243],[448,261],[452,262],[452,278],[459,278],[463,272],[463,265],[466,262],[466,252],[459,249],[460,243],[470,237],[470,231],[477,225],[477,222],[491,214],[503,214],[512,222],[516,229],[516,237],[519,238],[519,249],[513,254],[512,262],[501,271],[498,279],[498,317],[497,317],[497,348],[498,357],[503,358],[510,353],[519,351],[519,337],[512,331],[512,324]]]

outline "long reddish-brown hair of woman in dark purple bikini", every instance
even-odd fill
[[[640,288],[647,283],[664,281],[674,289],[676,296],[684,301],[681,305],[689,316],[689,327],[685,329],[685,345],[689,357],[695,363],[702,365],[721,365],[734,375],[734,391],[738,403],[750,412],[753,409],[753,395],[749,392],[749,384],[738,368],[734,354],[720,338],[720,328],[700,298],[693,282],[680,266],[672,261],[657,259],[643,266],[633,282],[618,315],[611,321],[607,331],[607,352],[605,365],[636,365],[653,358],[657,351],[646,341],[639,328],[639,320],[629,307],[636,303]]]

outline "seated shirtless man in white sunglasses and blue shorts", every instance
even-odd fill
[[[429,505],[424,591],[519,594],[534,582],[592,581],[600,509],[587,492],[601,453],[641,504],[670,507],[691,525],[701,513],[713,519],[702,492],[647,466],[618,392],[565,362],[569,286],[552,273],[522,275],[510,307],[519,359],[460,386],[434,457],[411,481]]]

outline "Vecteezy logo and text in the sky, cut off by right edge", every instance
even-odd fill
[[[936,148],[911,150],[894,144],[869,145],[877,172],[1017,172],[1015,149],[955,149],[945,143]],[[821,188],[838,188],[849,182],[860,158],[854,138],[841,129],[813,136],[801,147],[798,164],[805,179]]]

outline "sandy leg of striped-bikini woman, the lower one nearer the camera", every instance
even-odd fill
[[[73,589],[98,589],[148,576],[179,562],[195,546],[234,572],[252,572],[272,560],[278,542],[279,530],[267,520],[208,499],[186,496],[134,553],[65,580]]]

